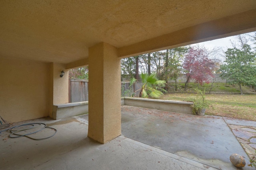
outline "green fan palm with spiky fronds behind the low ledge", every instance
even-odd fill
[[[162,87],[165,86],[164,80],[158,80],[156,74],[141,74],[142,78],[142,87],[139,90],[136,90],[132,96],[138,91],[140,91],[139,97],[142,98],[159,98],[163,92],[166,92]],[[130,87],[136,82],[135,78],[130,80]]]

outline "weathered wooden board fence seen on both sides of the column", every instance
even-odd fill
[[[88,80],[69,79],[69,103],[88,101]],[[130,82],[121,82],[121,96],[130,97],[140,89],[142,82],[135,82],[130,88]],[[138,96],[139,91],[134,96]]]

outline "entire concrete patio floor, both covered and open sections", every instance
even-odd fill
[[[10,139],[10,133],[0,133],[0,169],[235,170],[239,168],[230,163],[230,154],[244,156],[247,164],[249,160],[227,122],[256,127],[252,121],[122,106],[122,135],[102,145],[87,137],[88,115],[14,125],[28,122],[46,123],[57,133],[42,141]],[[36,135],[52,133],[45,129]],[[254,168],[246,165],[242,169]]]

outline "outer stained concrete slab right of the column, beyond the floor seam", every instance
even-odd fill
[[[232,153],[240,154],[250,164],[230,130],[231,125],[256,127],[256,122],[122,107],[122,135],[125,137],[222,170],[237,169],[230,163]],[[254,168],[246,165],[243,169]]]

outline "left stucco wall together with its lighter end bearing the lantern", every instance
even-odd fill
[[[65,74],[61,78],[60,72]],[[17,122],[52,116],[54,104],[68,103],[65,64],[0,57],[0,116]]]

